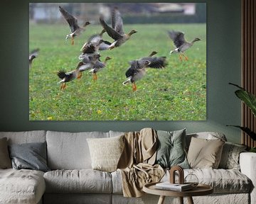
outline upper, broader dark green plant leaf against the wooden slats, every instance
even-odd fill
[[[238,96],[245,104],[250,108],[252,111],[253,115],[256,117],[256,96],[253,94],[250,94],[248,91],[243,89],[242,87],[229,83],[233,86],[237,86],[239,90],[235,91],[235,95]]]

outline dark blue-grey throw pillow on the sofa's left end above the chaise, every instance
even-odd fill
[[[9,152],[14,169],[50,171],[46,164],[46,142],[10,145]]]

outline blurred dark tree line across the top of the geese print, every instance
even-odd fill
[[[125,5],[124,5],[125,4]],[[194,3],[195,13],[182,11],[158,12],[157,3],[30,3],[29,18],[36,23],[64,22],[58,11],[63,6],[80,21],[98,22],[100,13],[110,18],[110,8],[117,6],[125,23],[206,23],[206,3]],[[154,7],[155,6],[155,7]]]

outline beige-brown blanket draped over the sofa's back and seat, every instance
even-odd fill
[[[144,195],[144,184],[158,182],[164,176],[164,169],[156,160],[157,135],[151,128],[140,132],[124,134],[124,152],[117,165],[122,175],[124,197],[140,197]]]

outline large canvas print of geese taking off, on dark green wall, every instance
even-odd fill
[[[29,9],[29,120],[206,120],[206,3]]]

